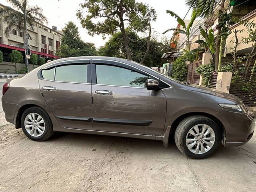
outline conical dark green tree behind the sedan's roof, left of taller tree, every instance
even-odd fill
[[[98,54],[94,44],[81,40],[78,27],[73,22],[68,22],[62,29],[62,33],[62,44],[56,52],[60,58],[96,56]]]

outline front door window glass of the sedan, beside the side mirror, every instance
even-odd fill
[[[145,87],[148,76],[111,65],[96,65],[96,77],[98,84]]]

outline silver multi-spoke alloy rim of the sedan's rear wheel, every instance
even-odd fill
[[[33,137],[39,137],[44,133],[45,122],[42,116],[37,113],[30,113],[24,121],[25,129]]]

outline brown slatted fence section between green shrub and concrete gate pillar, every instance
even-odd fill
[[[197,61],[197,62],[188,64],[188,74],[187,74],[188,83],[199,85],[200,75],[197,74],[196,68],[198,68],[201,64],[202,64],[202,61]]]

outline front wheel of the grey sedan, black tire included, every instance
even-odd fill
[[[189,116],[178,124],[174,138],[176,146],[184,155],[203,159],[210,157],[217,150],[220,144],[220,130],[217,124],[206,116]]]

